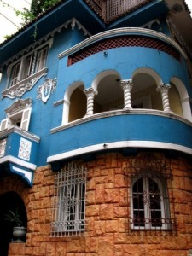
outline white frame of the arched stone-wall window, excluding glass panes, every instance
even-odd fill
[[[149,193],[149,178],[154,181],[158,185],[159,193],[156,195],[160,196],[160,209],[157,209],[161,212],[161,224],[160,225],[153,225],[152,221],[150,221],[151,218],[151,212],[155,209],[150,208],[150,193]],[[144,224],[134,224],[134,211],[138,211],[137,208],[134,209],[133,206],[133,187],[134,184],[137,183],[139,179],[142,179],[143,182],[143,193],[140,193],[143,195],[143,212],[144,212]],[[169,212],[169,202],[167,198],[167,191],[166,191],[166,184],[163,179],[160,177],[150,177],[150,176],[144,176],[143,177],[137,177],[132,180],[131,183],[131,230],[170,230],[171,224],[167,223],[166,220],[170,219],[170,212]],[[138,193],[139,194],[139,193]],[[142,210],[142,208],[141,208]]]

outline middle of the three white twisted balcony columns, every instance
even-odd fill
[[[121,80],[120,86],[124,90],[124,109],[131,109],[131,89],[133,87],[132,80]]]

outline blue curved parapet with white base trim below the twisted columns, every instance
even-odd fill
[[[119,148],[192,154],[192,124],[172,113],[132,109],[98,113],[52,130],[48,162]]]

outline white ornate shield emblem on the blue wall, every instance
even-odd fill
[[[42,100],[42,102],[46,103],[49,99],[51,93],[53,93],[56,89],[57,79],[46,79],[44,84],[38,86],[38,100]]]

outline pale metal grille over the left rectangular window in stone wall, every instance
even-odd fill
[[[51,236],[82,236],[85,227],[86,168],[69,163],[55,174]]]

